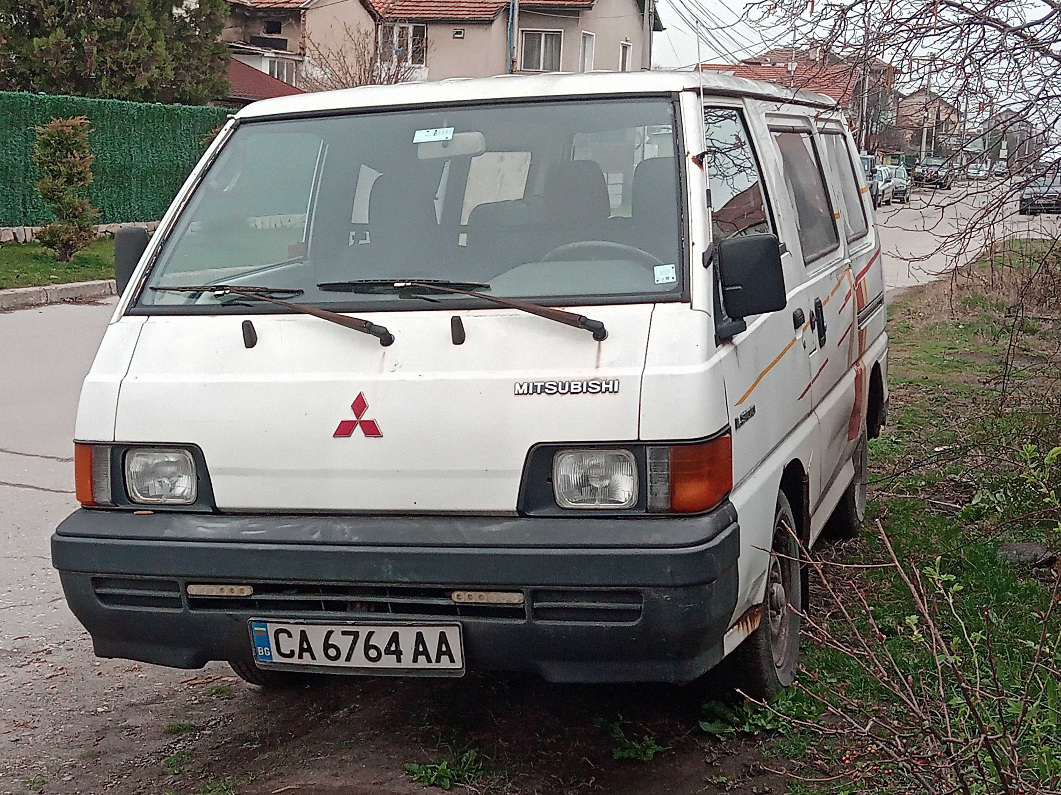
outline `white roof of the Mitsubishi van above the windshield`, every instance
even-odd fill
[[[501,74],[494,77],[451,77],[445,81],[400,83],[394,86],[362,86],[338,91],[319,91],[279,96],[247,105],[236,117],[255,119],[291,113],[318,113],[448,102],[533,99],[543,96],[596,96],[630,93],[669,93],[703,87],[705,94],[755,96],[779,103],[797,103],[838,109],[824,94],[785,88],[716,72],[593,72],[588,74]]]

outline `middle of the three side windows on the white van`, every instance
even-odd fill
[[[785,187],[796,208],[803,264],[810,265],[840,246],[821,161],[810,132],[775,130],[773,141],[781,153]]]

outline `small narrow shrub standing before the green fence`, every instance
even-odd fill
[[[92,183],[92,161],[88,148],[88,119],[52,119],[36,127],[37,140],[32,160],[40,169],[37,193],[48,202],[55,220],[37,234],[59,262],[69,262],[92,240],[92,223],[100,214],[85,195]]]

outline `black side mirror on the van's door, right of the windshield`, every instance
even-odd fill
[[[777,235],[727,237],[718,244],[716,263],[723,303],[733,320],[779,312],[788,303]]]

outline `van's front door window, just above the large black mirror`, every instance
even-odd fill
[[[703,164],[711,188],[712,233],[716,241],[734,234],[770,232],[762,177],[741,111],[703,109]]]

